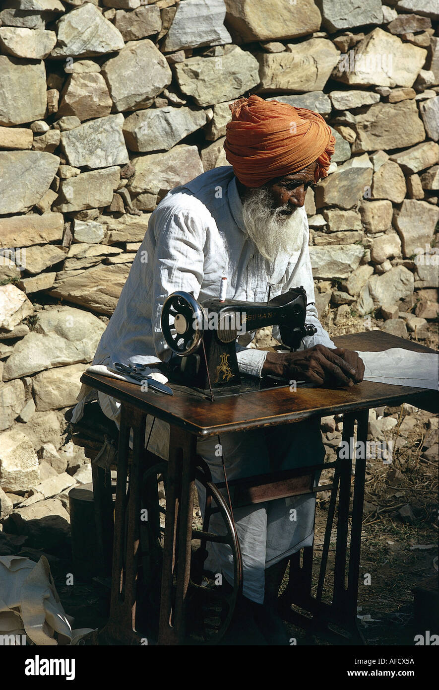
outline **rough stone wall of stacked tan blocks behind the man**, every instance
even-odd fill
[[[433,6],[1,3],[3,515],[29,490],[30,504],[60,495],[66,506],[63,491],[90,481],[83,456],[61,446],[65,408],[74,404],[150,213],[167,190],[227,164],[228,103],[248,92],[316,110],[333,128],[330,175],[306,201],[318,308],[329,332],[380,327],[434,344]],[[19,512],[26,510],[28,503]]]

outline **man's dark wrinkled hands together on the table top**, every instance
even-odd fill
[[[365,365],[356,352],[346,348],[315,345],[291,353],[269,352],[263,376],[273,375],[287,380],[309,381],[318,386],[354,386],[363,381]]]

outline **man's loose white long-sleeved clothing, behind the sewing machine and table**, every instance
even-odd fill
[[[227,298],[247,302],[267,300],[289,288],[303,286],[307,293],[309,324],[315,335],[305,338],[305,347],[335,345],[318,321],[314,304],[314,281],[309,259],[309,228],[304,208],[303,241],[292,256],[279,253],[267,262],[245,232],[242,204],[231,167],[223,166],[172,190],[150,217],[145,239],[139,248],[130,275],[114,314],[101,337],[93,364],[114,362],[152,364],[170,358],[161,333],[161,308],[175,290],[193,292],[196,299],[218,297],[221,277],[227,277]],[[273,335],[279,342],[278,328]],[[241,373],[256,377],[267,353],[237,345]],[[96,398],[96,391],[83,391],[83,400]],[[120,404],[99,393],[99,403],[116,422]],[[79,418],[79,415],[76,415]],[[150,448],[167,456],[169,427],[156,420]],[[221,460],[215,455],[218,439],[201,440],[198,452],[210,465],[216,482],[223,481]],[[227,477],[289,469],[323,460],[319,424],[305,422],[268,430],[227,433],[221,437]],[[276,457],[272,451],[276,447]],[[271,451],[271,452],[270,452]],[[263,602],[264,569],[302,546],[314,536],[314,498],[295,497],[267,502],[235,511],[238,536],[243,552],[244,594]],[[291,509],[297,510],[296,520]],[[212,554],[211,554],[212,555]],[[231,579],[227,548],[216,547],[216,567]]]

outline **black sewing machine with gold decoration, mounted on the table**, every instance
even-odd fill
[[[296,351],[315,326],[305,324],[307,295],[302,286],[290,288],[269,302],[207,299],[177,291],[163,304],[161,328],[172,350],[170,379],[203,392],[237,392],[241,376],[236,339],[263,326],[277,325],[283,344]]]

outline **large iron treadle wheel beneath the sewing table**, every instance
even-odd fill
[[[196,469],[196,480],[205,488],[206,507],[202,528],[197,529],[195,520],[193,522],[190,582],[185,605],[185,644],[218,644],[229,627],[236,598],[242,591],[241,551],[223,495],[200,468]],[[143,474],[141,506],[147,510],[148,519],[141,522],[136,627],[145,631],[150,639],[157,639],[158,635],[166,485],[167,462],[156,464]],[[209,531],[213,512],[219,512],[223,518],[224,535]],[[233,586],[225,582],[221,573],[205,569],[209,545],[213,542],[228,544],[232,551]]]

